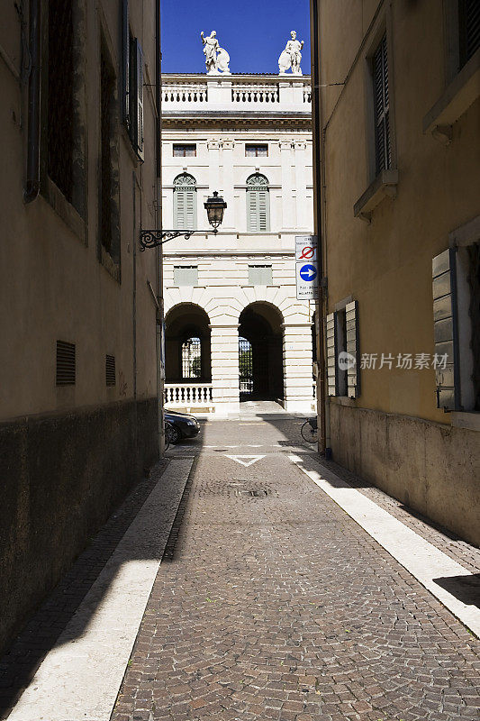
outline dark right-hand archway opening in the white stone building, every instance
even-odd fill
[[[242,311],[239,326],[240,402],[283,400],[283,316],[267,303]]]

